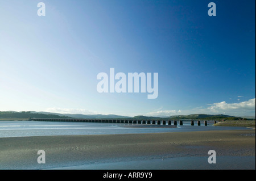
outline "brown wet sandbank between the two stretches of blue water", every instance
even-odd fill
[[[38,150],[46,151],[46,164],[37,163]],[[209,150],[255,157],[255,129],[0,138],[0,169],[50,169],[136,157],[205,157]]]

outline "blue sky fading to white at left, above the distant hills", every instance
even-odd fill
[[[255,116],[255,1],[209,2],[1,0],[0,111]],[[158,73],[158,98],[100,94],[110,68]]]

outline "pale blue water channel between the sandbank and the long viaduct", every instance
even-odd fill
[[[248,129],[243,127],[205,127],[191,126],[189,122],[177,125],[177,128],[125,128],[124,124],[115,123],[76,123],[76,122],[43,122],[43,121],[0,121],[0,137],[22,136],[57,136],[86,134],[132,134],[191,132],[230,129]]]

